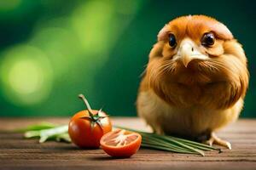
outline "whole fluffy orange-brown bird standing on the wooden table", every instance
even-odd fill
[[[154,133],[231,150],[216,132],[236,122],[249,72],[241,43],[223,23],[203,14],[168,22],[148,55],[137,93],[137,114]]]

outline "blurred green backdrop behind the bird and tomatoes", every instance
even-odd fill
[[[251,74],[241,116],[256,116],[253,1],[0,1],[0,116],[72,116],[93,108],[136,116],[140,74],[160,28],[207,14],[243,44]]]

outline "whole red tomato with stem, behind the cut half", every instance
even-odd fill
[[[83,94],[79,98],[84,100],[88,110],[79,111],[68,124],[68,134],[73,143],[81,148],[98,148],[102,135],[112,130],[108,115],[102,110],[91,110]]]

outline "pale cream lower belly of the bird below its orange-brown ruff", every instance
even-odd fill
[[[243,106],[243,100],[240,99],[236,105],[224,110],[208,109],[203,105],[177,108],[166,104],[152,90],[141,92],[138,102],[140,116],[146,119],[156,133],[177,134],[192,139],[209,135],[235,122]]]

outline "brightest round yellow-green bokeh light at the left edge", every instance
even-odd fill
[[[52,87],[49,61],[38,48],[20,45],[3,55],[3,94],[14,105],[35,105],[47,99]]]

